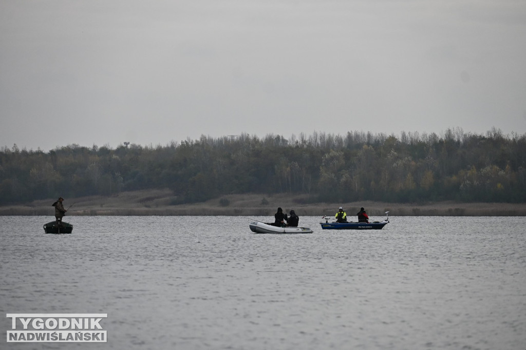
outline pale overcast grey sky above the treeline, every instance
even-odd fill
[[[526,132],[524,0],[0,0],[0,146]]]

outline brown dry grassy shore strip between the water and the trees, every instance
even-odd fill
[[[56,199],[38,200],[21,205],[0,207],[0,215],[49,215],[53,217],[51,204]],[[66,198],[64,208],[73,204],[67,215],[234,215],[272,217],[278,207],[298,215],[334,215],[341,206],[349,216],[364,207],[369,216],[525,216],[526,203],[309,203],[306,195],[287,194],[231,194],[202,203],[175,204],[177,198],[169,190],[144,190],[122,192],[111,197],[91,196]]]

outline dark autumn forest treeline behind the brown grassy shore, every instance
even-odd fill
[[[173,204],[278,192],[327,202],[525,202],[526,134],[242,134],[156,147],[0,149],[0,205],[153,188],[173,190]]]

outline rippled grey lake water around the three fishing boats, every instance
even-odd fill
[[[254,217],[271,221],[270,217]],[[0,217],[0,348],[526,348],[525,217],[254,234],[246,217]],[[376,220],[381,218],[375,218]],[[107,343],[7,343],[7,313],[107,313]]]

